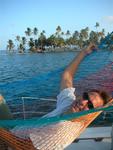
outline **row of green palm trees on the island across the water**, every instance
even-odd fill
[[[96,22],[96,31],[90,31],[88,27],[80,31],[71,33],[69,30],[64,33],[60,26],[56,28],[56,32],[49,37],[46,37],[46,32],[39,30],[35,27],[33,30],[27,28],[25,37],[16,36],[15,41],[9,40],[7,49],[13,52],[17,49],[19,53],[23,52],[48,52],[48,51],[61,51],[61,50],[79,50],[87,46],[90,42],[99,44],[105,38],[105,30],[98,31],[99,23]],[[111,37],[113,41],[113,36]],[[113,49],[113,42],[110,40],[105,44],[105,48]]]

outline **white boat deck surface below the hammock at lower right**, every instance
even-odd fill
[[[72,143],[65,150],[111,150],[112,127],[87,128],[79,137],[79,141]],[[103,138],[102,141],[94,139]]]

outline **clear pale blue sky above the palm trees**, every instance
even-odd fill
[[[49,36],[61,26],[63,32],[89,27],[113,31],[113,0],[0,0],[0,49],[9,39],[25,36],[27,27],[37,27]]]

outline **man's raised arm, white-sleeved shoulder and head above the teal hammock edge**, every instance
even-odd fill
[[[75,88],[73,87],[73,78],[77,72],[77,68],[86,55],[90,55],[97,47],[90,44],[81,51],[77,57],[67,66],[61,78],[61,92],[57,96],[56,109],[44,117],[53,117],[69,112],[78,112],[89,110],[91,108],[102,107],[111,97],[104,91],[91,89],[84,92],[81,100],[76,100]],[[87,67],[87,66],[86,66]]]

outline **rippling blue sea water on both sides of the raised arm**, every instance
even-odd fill
[[[0,51],[0,93],[7,102],[11,100],[16,104],[19,103],[16,99],[21,97],[55,99],[59,93],[62,72],[77,53],[6,54],[5,51]],[[106,82],[110,77],[104,69],[112,61],[113,52],[107,50],[95,51],[85,57],[75,75],[76,91],[81,93],[83,88],[87,89],[90,83],[95,88],[96,86],[103,87],[104,81]],[[99,75],[102,70],[105,73],[104,77],[103,73]],[[100,78],[97,79],[98,76]],[[95,84],[94,78],[98,80],[98,85]],[[83,82],[85,85],[82,86]],[[111,89],[110,92],[112,93]],[[35,102],[35,99],[31,101]]]

